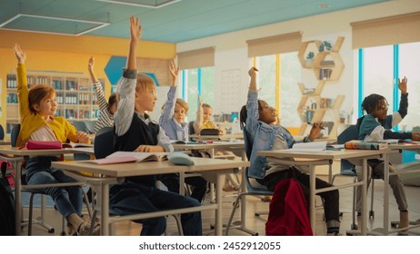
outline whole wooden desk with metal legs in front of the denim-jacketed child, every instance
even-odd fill
[[[338,190],[340,188],[347,188],[356,185],[362,185],[362,235],[366,235],[366,179],[367,179],[367,160],[375,159],[378,156],[383,156],[384,161],[387,165],[388,154],[395,153],[392,150],[341,150],[341,151],[289,151],[289,150],[276,150],[276,151],[258,151],[259,156],[265,156],[267,160],[275,163],[280,163],[288,166],[302,166],[307,165],[310,167],[309,175],[309,218],[311,220],[312,230],[315,232],[315,194],[328,191]],[[299,161],[291,161],[297,159]],[[334,160],[341,159],[362,159],[363,161],[363,180],[355,183],[347,183],[334,187],[315,189],[315,166],[316,165],[328,165],[333,163]]]

